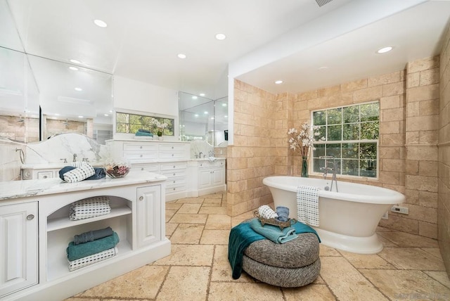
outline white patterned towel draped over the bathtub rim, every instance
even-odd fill
[[[319,188],[297,187],[297,217],[304,224],[319,226]]]

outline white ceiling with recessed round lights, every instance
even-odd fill
[[[426,0],[333,0],[322,7],[315,0],[8,5],[27,53],[63,62],[76,58],[87,68],[210,99],[228,95],[229,72],[266,91],[297,93],[399,70],[439,53],[450,16],[450,1]],[[94,19],[108,27],[97,27]],[[224,41],[214,38],[219,32]],[[6,40],[0,37],[0,46]],[[375,54],[388,45],[394,50]],[[6,46],[20,50],[14,42]],[[284,83],[277,86],[276,79]]]

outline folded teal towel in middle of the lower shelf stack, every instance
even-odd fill
[[[115,232],[112,236],[100,238],[96,241],[90,241],[89,243],[80,243],[79,245],[75,245],[73,241],[71,241],[66,249],[68,260],[79,260],[80,258],[114,248],[119,241],[119,236]]]

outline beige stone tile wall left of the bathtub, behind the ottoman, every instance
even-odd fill
[[[249,84],[234,84],[234,144],[227,148],[227,212],[232,217],[271,202],[262,179],[275,174],[276,96]],[[280,113],[281,112],[281,113]]]

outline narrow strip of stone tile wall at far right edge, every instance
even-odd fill
[[[437,237],[450,273],[450,27],[447,27],[439,68]]]

